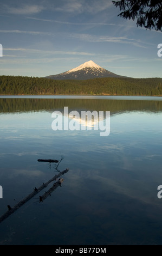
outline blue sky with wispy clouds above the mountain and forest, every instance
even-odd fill
[[[5,0],[0,75],[44,77],[93,60],[118,75],[162,77],[162,32],[118,17],[109,0]]]

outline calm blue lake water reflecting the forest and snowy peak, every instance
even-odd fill
[[[64,107],[110,111],[109,136],[54,131]],[[0,132],[0,215],[57,174],[38,159],[69,168],[43,203],[41,191],[0,223],[0,245],[162,244],[161,97],[0,96]]]

